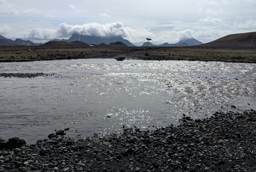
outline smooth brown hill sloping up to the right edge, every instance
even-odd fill
[[[256,32],[231,34],[200,47],[256,47]]]

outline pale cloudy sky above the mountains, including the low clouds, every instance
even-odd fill
[[[0,35],[35,43],[122,36],[136,46],[256,31],[256,0],[0,0]]]

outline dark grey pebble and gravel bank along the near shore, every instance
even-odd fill
[[[256,171],[256,111],[184,116],[154,131],[50,139],[0,150],[0,171]]]

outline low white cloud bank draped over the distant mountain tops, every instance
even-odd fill
[[[97,36],[97,37],[115,37],[122,36],[124,39],[128,39],[130,42],[142,45],[147,37],[150,37],[156,43],[177,42],[182,39],[194,38],[196,31],[186,29],[184,31],[161,31],[158,34],[154,34],[154,27],[152,31],[147,31],[140,28],[129,28],[124,27],[120,22],[99,24],[99,23],[88,23],[84,25],[69,25],[67,23],[61,23],[56,28],[33,28],[25,31],[17,31],[17,35],[6,36],[8,38],[21,38],[29,39],[36,43],[44,43],[53,39],[68,39],[73,33],[86,36]],[[148,28],[150,30],[150,28]],[[134,34],[135,33],[135,34]]]

